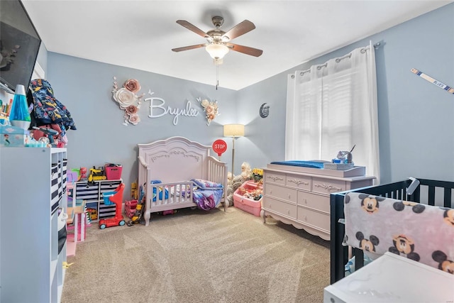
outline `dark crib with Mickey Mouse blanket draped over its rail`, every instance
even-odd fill
[[[331,194],[331,284],[384,251],[453,273],[453,189],[410,178]]]

